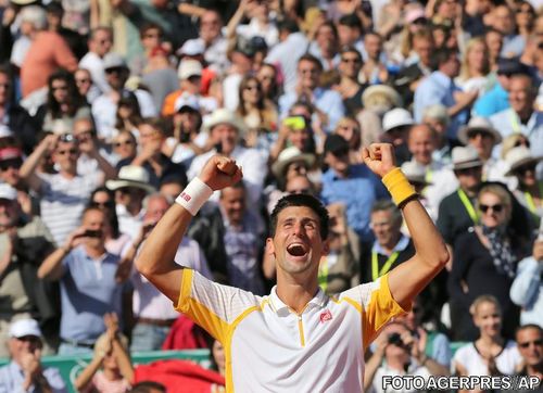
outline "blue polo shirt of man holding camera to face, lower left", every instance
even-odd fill
[[[115,281],[118,259],[110,253],[92,259],[83,245],[64,257],[60,280],[61,338],[91,343],[105,331],[105,313],[114,312],[122,319],[126,284]]]

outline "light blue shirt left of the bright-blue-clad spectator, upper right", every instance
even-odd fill
[[[456,100],[454,92],[460,91],[454,84],[454,80],[440,71],[434,71],[425,78],[415,90],[415,99],[413,101],[413,110],[415,121],[422,122],[422,113],[426,107],[442,104],[446,107],[454,106]],[[447,128],[447,137],[457,139],[458,128],[466,124],[468,111],[464,110],[451,119],[451,125]]]

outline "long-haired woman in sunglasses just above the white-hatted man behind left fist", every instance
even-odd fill
[[[249,128],[245,143],[249,147],[269,149],[272,131],[277,129],[278,113],[276,105],[262,92],[261,83],[255,76],[245,76],[239,87],[237,114]]]

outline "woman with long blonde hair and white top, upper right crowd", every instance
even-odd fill
[[[466,46],[456,85],[464,91],[479,91],[482,96],[489,87],[489,48],[482,37],[471,38]]]

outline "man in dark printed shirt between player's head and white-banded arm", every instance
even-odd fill
[[[226,249],[230,286],[264,294],[261,262],[264,254],[265,228],[262,217],[247,207],[243,182],[220,191],[223,241]],[[185,263],[184,263],[185,265]]]

